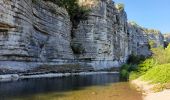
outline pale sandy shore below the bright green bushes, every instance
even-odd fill
[[[156,84],[149,84],[148,82],[141,81],[140,78],[131,81],[131,83],[136,86],[138,91],[142,91],[143,100],[170,100],[170,89],[154,92],[153,88]]]

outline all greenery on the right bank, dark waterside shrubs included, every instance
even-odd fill
[[[162,90],[170,82],[170,45],[167,48],[152,48],[152,56],[147,59],[131,56],[127,65],[121,68],[121,78],[134,80],[141,78],[151,83],[160,83],[154,91]],[[139,59],[140,58],[140,59]]]

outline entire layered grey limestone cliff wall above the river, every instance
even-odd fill
[[[46,0],[0,0],[0,69],[79,64],[99,70],[119,67],[130,54],[150,55],[149,39],[162,45],[161,34],[147,35],[128,23],[112,0],[80,1],[91,12],[71,37],[64,8]]]

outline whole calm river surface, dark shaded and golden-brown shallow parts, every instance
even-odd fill
[[[0,100],[142,100],[118,74],[24,79],[0,83]]]

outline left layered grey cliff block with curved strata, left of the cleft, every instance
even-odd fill
[[[0,0],[0,67],[73,59],[70,30],[67,11],[51,2]]]

